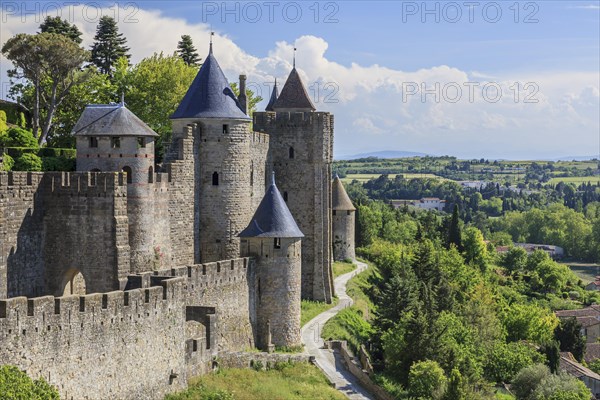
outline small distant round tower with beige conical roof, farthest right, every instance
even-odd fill
[[[354,219],[356,208],[336,175],[332,185],[333,218],[333,259],[335,261],[354,260]]]

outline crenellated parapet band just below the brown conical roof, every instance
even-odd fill
[[[315,124],[327,126],[333,124],[333,115],[328,112],[255,112],[253,127],[257,132],[268,132],[281,127],[310,127]]]

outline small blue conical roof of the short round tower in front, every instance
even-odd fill
[[[267,189],[265,196],[260,202],[250,224],[244,229],[239,237],[278,237],[278,238],[301,238],[304,234],[298,228],[292,213],[287,208],[279,189],[275,186],[275,177],[271,180],[271,186]]]

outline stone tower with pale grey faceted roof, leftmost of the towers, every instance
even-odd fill
[[[168,194],[156,188],[154,140],[148,125],[119,104],[88,105],[73,128],[77,170],[125,172],[132,273],[168,264]],[[92,182],[93,184],[93,182]]]

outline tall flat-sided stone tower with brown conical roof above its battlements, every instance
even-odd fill
[[[302,297],[330,302],[333,115],[315,111],[294,67],[279,96],[274,89],[267,111],[254,113],[254,129],[270,136],[269,161],[305,235]]]

